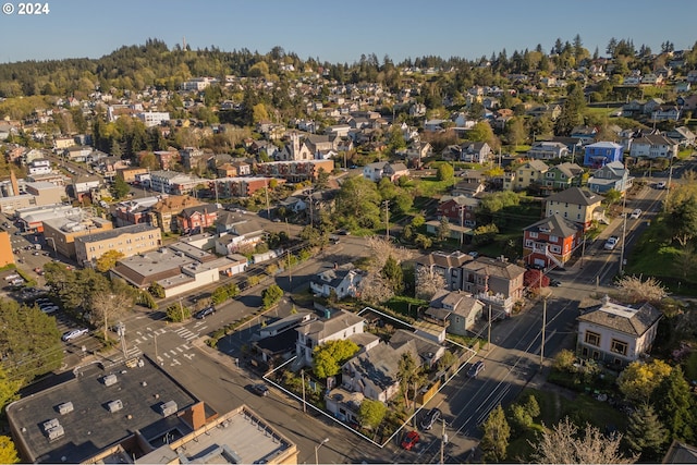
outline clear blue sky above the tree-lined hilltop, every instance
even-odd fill
[[[502,50],[546,52],[557,40],[600,56],[611,37],[653,52],[697,41],[695,0],[48,0],[49,12],[20,15],[0,0],[0,63],[99,58],[148,38],[168,47],[216,46],[267,53],[280,46],[301,59],[354,63],[375,53],[399,63],[438,56],[475,60]],[[13,7],[7,14],[8,4]]]

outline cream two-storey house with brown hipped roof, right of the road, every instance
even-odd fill
[[[662,314],[650,304],[626,306],[610,302],[582,314],[576,352],[608,366],[622,368],[651,350]]]

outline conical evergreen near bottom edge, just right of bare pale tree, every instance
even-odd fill
[[[641,454],[641,462],[658,463],[664,454],[668,430],[653,407],[641,403],[629,415],[625,439],[634,452]]]

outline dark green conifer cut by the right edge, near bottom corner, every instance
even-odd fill
[[[655,390],[653,405],[672,439],[686,442],[695,439],[695,397],[680,366],[673,368]]]

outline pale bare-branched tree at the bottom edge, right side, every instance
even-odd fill
[[[529,441],[528,441],[529,442]],[[622,435],[607,437],[598,428],[586,425],[583,435],[568,417],[546,430],[535,449],[533,461],[541,464],[626,464],[627,458],[620,451]]]

